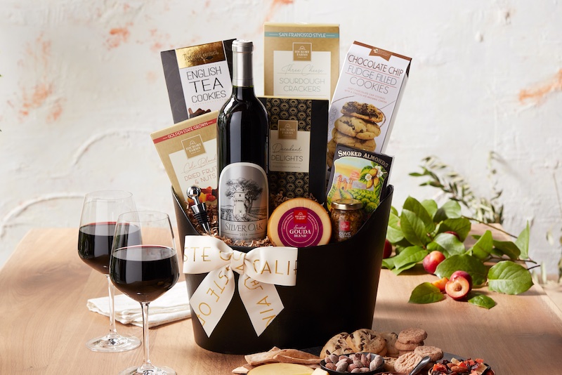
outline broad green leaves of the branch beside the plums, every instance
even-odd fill
[[[487,230],[466,249],[464,241],[471,230],[471,221],[462,216],[461,206],[450,199],[443,206],[432,199],[423,202],[408,197],[401,213],[392,207],[388,218],[386,239],[396,248],[396,256],[386,258],[383,266],[399,275],[423,261],[431,251],[443,253],[435,274],[450,277],[453,272],[468,272],[475,287],[488,284],[491,291],[502,294],[521,294],[532,286],[532,277],[525,262],[534,263],[528,256],[529,225],[521,231],[515,242],[492,238]],[[494,263],[491,267],[490,263]],[[443,299],[443,294],[431,283],[414,289],[410,302],[429,303]],[[495,305],[488,296],[472,292],[469,302],[490,308]]]

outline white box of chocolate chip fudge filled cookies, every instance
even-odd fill
[[[329,109],[329,167],[332,167],[337,144],[384,152],[411,61],[397,53],[353,42]]]

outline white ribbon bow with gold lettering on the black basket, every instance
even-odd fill
[[[209,272],[190,298],[207,336],[234,296],[233,270],[240,274],[238,293],[258,336],[283,310],[274,284],[296,284],[296,247],[258,247],[243,253],[209,236],[185,236],[184,247],[183,272]]]

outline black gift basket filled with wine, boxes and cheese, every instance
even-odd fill
[[[383,152],[411,59],[355,41],[340,72],[339,25],[266,22],[264,35],[260,98],[251,41],[162,52],[175,124],[151,136],[195,341],[219,353],[372,327],[393,197]]]

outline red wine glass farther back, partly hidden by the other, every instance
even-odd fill
[[[92,338],[86,346],[95,352],[115,353],[138,348],[141,340],[124,336],[115,329],[115,288],[110,279],[110,254],[117,217],[136,209],[133,195],[121,190],[90,192],[84,197],[78,235],[78,254],[82,261],[107,277],[110,307],[110,331]]]

